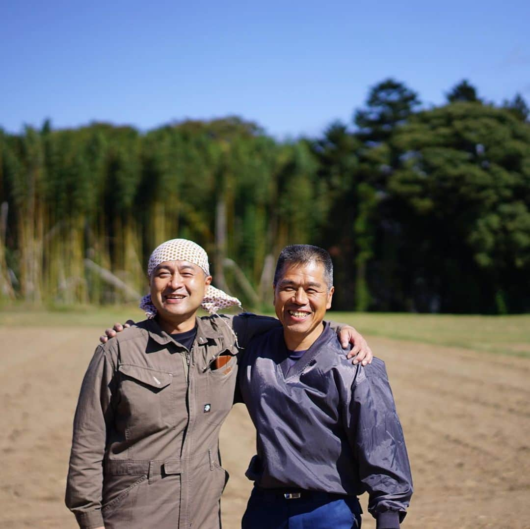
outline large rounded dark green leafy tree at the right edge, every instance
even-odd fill
[[[408,287],[412,305],[530,309],[530,127],[507,110],[458,102],[420,112],[393,142],[400,275],[423,294]]]

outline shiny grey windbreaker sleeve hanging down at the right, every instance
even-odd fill
[[[377,529],[398,528],[412,496],[412,476],[382,360],[359,367],[350,398],[348,435],[369,495],[368,511]]]

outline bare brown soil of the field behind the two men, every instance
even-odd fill
[[[0,327],[0,527],[77,526],[63,504],[65,475],[77,394],[99,333]],[[369,342],[386,362],[412,465],[416,492],[403,526],[530,527],[530,360]],[[253,453],[253,428],[237,405],[222,431],[231,474],[225,529],[240,526]],[[363,527],[375,527],[366,502]]]

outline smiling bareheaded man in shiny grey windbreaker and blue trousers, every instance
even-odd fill
[[[401,424],[384,363],[352,369],[324,322],[328,252],[284,248],[273,290],[283,328],[255,337],[240,367],[258,452],[243,529],[360,527],[365,491],[377,528],[399,528],[412,495]]]

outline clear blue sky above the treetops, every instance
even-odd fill
[[[143,131],[239,115],[277,137],[349,122],[395,77],[439,104],[469,79],[530,103],[530,2],[0,3],[0,127],[92,120]]]

